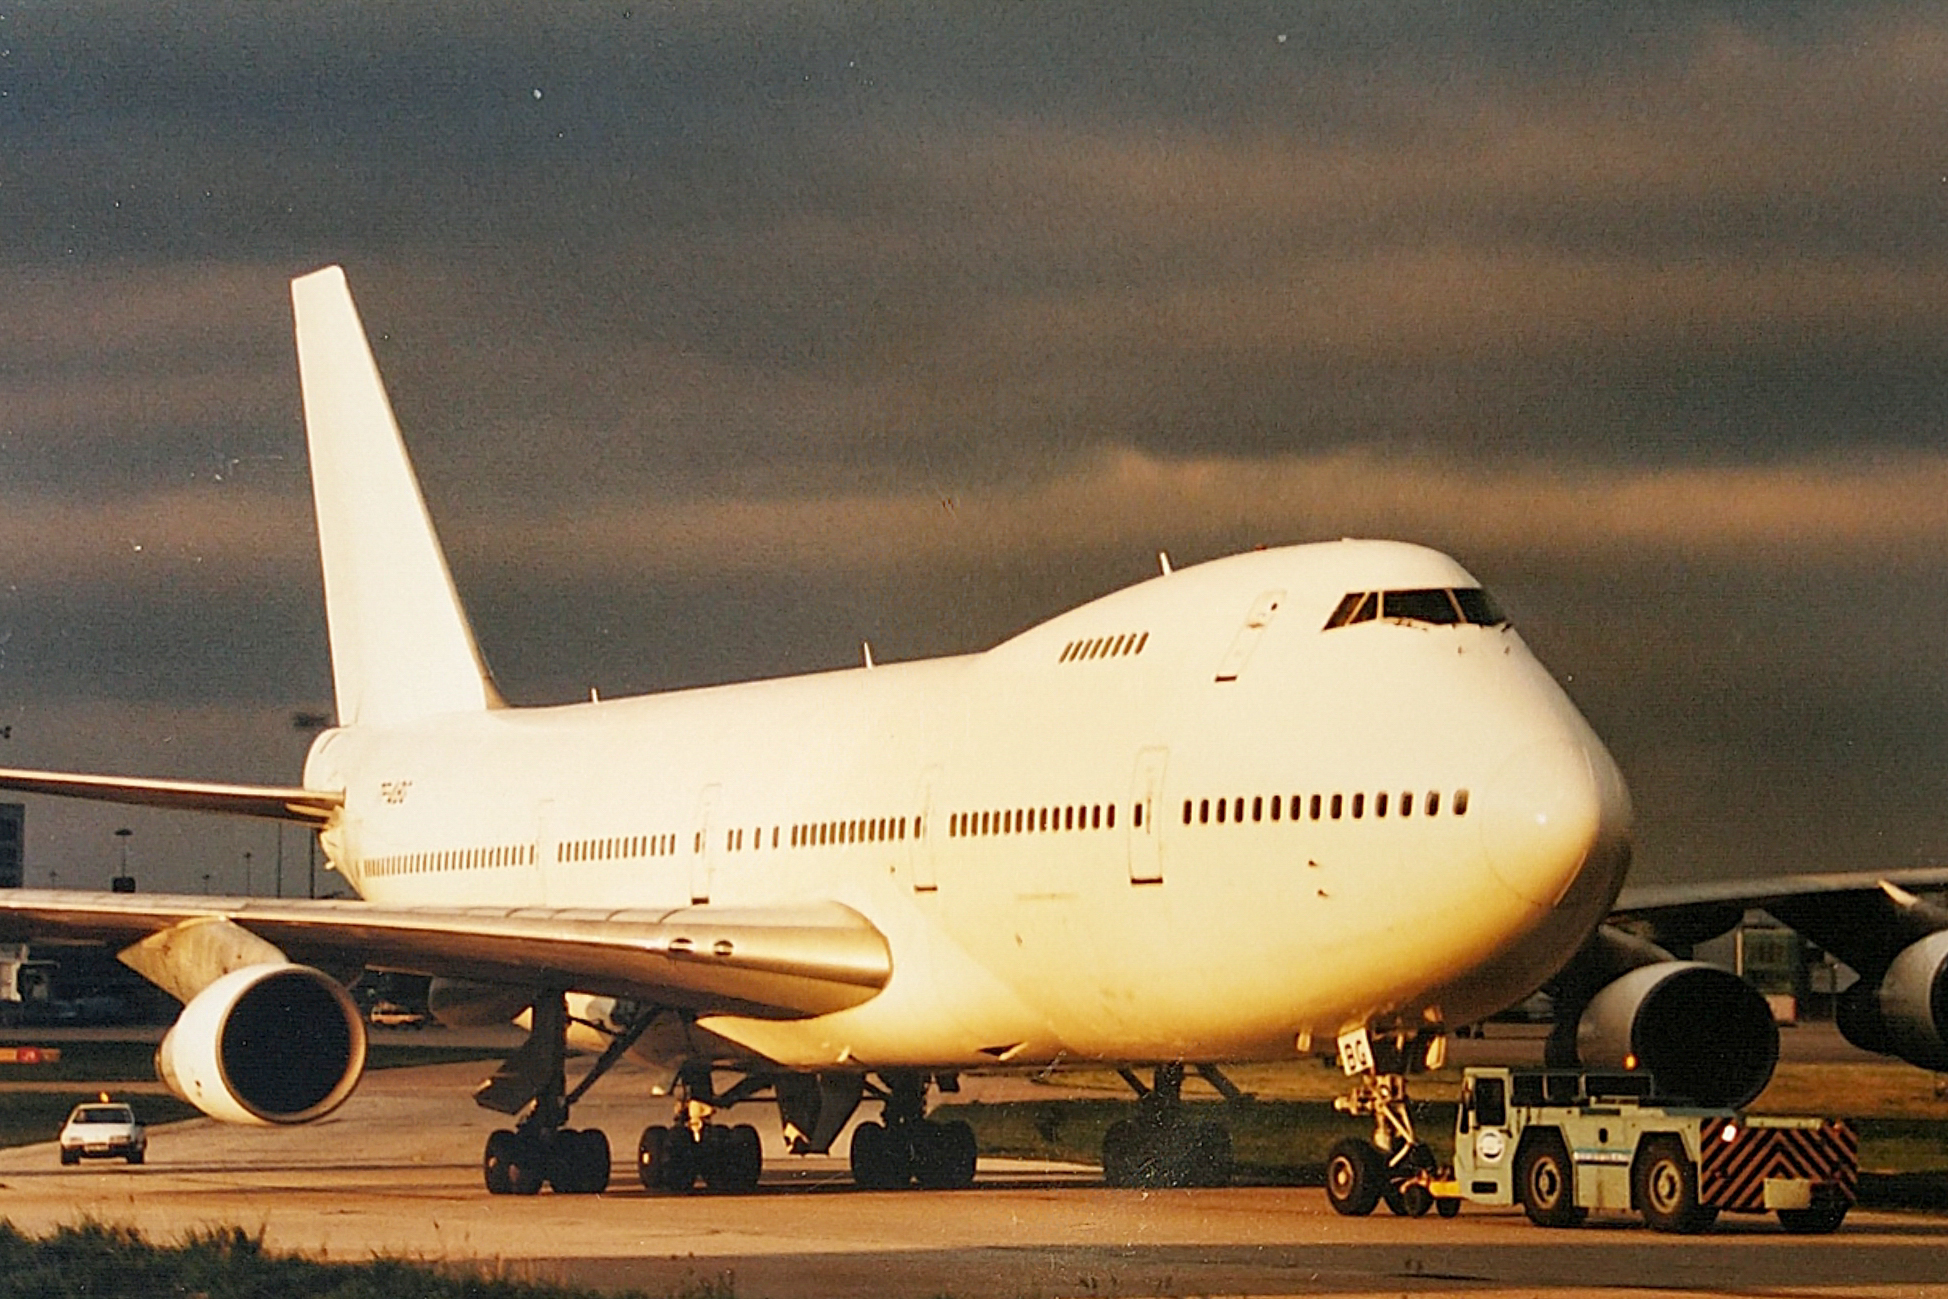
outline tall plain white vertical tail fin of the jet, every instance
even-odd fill
[[[290,282],[339,724],[503,707],[399,440],[345,271]]]

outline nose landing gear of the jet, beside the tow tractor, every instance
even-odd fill
[[[1395,1038],[1369,1042],[1366,1030],[1340,1038],[1340,1063],[1358,1079],[1350,1096],[1332,1102],[1342,1114],[1371,1114],[1373,1137],[1344,1137],[1327,1155],[1327,1200],[1338,1213],[1366,1217],[1381,1202],[1401,1217],[1422,1217],[1434,1206],[1434,1151],[1414,1135],[1406,1100],[1406,1061],[1424,1058],[1428,1067],[1445,1059],[1445,1038]],[[1449,1217],[1459,1202],[1443,1200]]]

